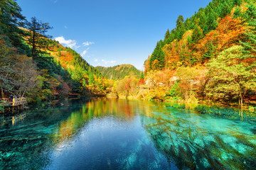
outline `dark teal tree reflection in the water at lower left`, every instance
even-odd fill
[[[70,116],[70,111],[79,111],[80,101],[62,101],[67,106],[40,106],[26,113],[26,118],[14,125],[11,121],[0,127],[0,169],[43,169],[50,162],[55,126]],[[39,106],[37,106],[39,107]]]

